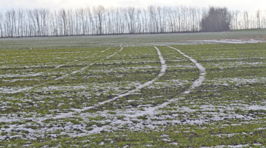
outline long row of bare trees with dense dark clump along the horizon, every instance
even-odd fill
[[[12,9],[0,12],[0,36],[67,36],[137,33],[222,32],[266,28],[266,11],[229,11],[226,7],[187,6],[145,9]]]

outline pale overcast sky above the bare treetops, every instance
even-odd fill
[[[254,11],[261,9],[266,13],[266,0],[0,0],[0,12],[10,9],[24,8],[79,8],[103,5],[104,7],[141,7],[156,6],[226,6],[229,10]]]

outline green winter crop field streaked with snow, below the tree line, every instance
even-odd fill
[[[266,147],[265,34],[0,39],[0,148]]]

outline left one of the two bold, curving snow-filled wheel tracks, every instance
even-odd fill
[[[146,87],[146,86],[148,86],[148,85],[151,85],[154,81],[158,80],[161,76],[164,75],[164,73],[165,73],[165,71],[166,71],[166,69],[167,69],[167,65],[165,64],[165,60],[164,60],[164,58],[162,57],[162,54],[161,54],[160,50],[159,50],[157,47],[154,47],[154,48],[157,50],[158,57],[159,57],[159,59],[160,59],[161,66],[162,66],[160,74],[159,74],[155,79],[153,79],[153,80],[151,80],[151,81],[149,81],[149,82],[145,82],[144,84],[141,84],[141,85],[137,86],[136,89],[131,90],[131,91],[125,93],[125,94],[120,94],[120,95],[118,95],[117,97],[114,97],[113,99],[108,99],[108,100],[106,100],[106,101],[103,101],[103,102],[100,102],[100,103],[98,103],[98,104],[95,104],[94,106],[85,107],[85,108],[83,108],[83,109],[75,109],[75,111],[76,111],[76,112],[85,111],[85,110],[88,110],[88,109],[91,109],[91,108],[95,108],[95,107],[97,107],[97,106],[99,106],[99,105],[103,105],[103,104],[105,104],[105,103],[108,103],[108,102],[114,101],[115,99],[118,99],[118,98],[122,98],[122,97],[128,96],[128,95],[130,95],[130,94],[132,94],[132,93],[134,93],[134,92],[136,92],[136,91],[139,91],[139,90],[140,90],[141,88],[143,88],[143,87]],[[121,50],[122,50],[122,48],[121,48]],[[120,50],[119,50],[119,51],[120,51]],[[118,51],[118,52],[119,52],[119,51]],[[114,54],[115,54],[115,53],[114,53]]]

